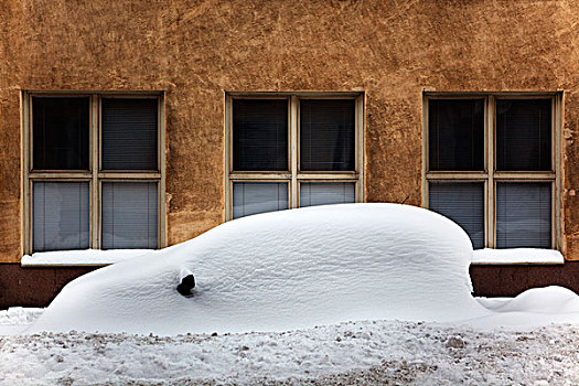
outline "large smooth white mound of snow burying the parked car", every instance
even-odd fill
[[[87,274],[26,332],[287,331],[351,320],[483,318],[472,245],[453,222],[397,204],[274,212]],[[193,297],[176,291],[191,271]]]

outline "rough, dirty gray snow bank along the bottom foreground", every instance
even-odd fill
[[[0,344],[4,385],[579,385],[579,329],[401,321],[285,333],[42,333]]]

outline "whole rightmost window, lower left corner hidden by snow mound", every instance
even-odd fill
[[[476,248],[556,248],[559,94],[425,96],[423,204]]]

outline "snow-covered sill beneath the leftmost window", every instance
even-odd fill
[[[22,256],[22,267],[95,267],[108,266],[154,253],[156,249],[84,249],[54,250]]]

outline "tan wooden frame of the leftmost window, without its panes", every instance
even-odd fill
[[[85,171],[32,170],[33,97],[88,97],[89,98],[89,165]],[[104,98],[147,98],[158,101],[158,170],[101,170],[101,100]],[[32,185],[36,181],[89,183],[89,248],[101,247],[101,184],[103,182],[156,182],[158,186],[158,247],[165,246],[165,108],[162,92],[22,92],[22,249],[33,253]]]

